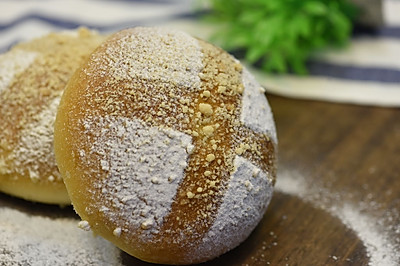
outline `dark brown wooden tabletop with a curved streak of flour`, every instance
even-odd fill
[[[400,109],[268,98],[279,138],[275,194],[244,243],[202,265],[400,265]],[[0,205],[33,206],[5,195]]]

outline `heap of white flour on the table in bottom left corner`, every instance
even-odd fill
[[[119,249],[77,225],[1,207],[0,265],[122,265]]]

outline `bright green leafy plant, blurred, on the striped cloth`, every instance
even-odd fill
[[[214,40],[269,72],[307,73],[310,54],[347,43],[356,8],[347,0],[209,0]]]

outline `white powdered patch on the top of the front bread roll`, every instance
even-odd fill
[[[198,42],[190,35],[172,29],[141,28],[117,41],[118,49],[105,53],[113,75],[124,78],[156,80],[198,89],[198,73],[203,68]],[[101,67],[101,65],[100,65]]]

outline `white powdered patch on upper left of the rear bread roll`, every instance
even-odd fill
[[[35,60],[38,53],[21,50],[0,55],[0,93],[9,87],[15,75],[23,72]]]

